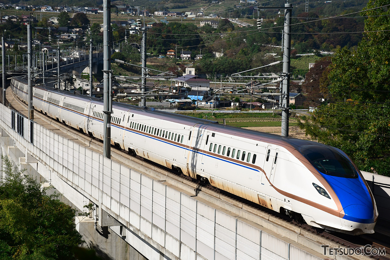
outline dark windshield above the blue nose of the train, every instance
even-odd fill
[[[310,149],[311,150],[311,149]],[[357,178],[358,174],[351,161],[337,150],[319,147],[308,151],[305,157],[321,173],[343,178]]]

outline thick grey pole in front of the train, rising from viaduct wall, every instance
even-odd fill
[[[111,113],[108,93],[111,70],[111,1],[103,0],[103,156],[111,158]]]

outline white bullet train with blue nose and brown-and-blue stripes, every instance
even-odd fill
[[[27,82],[12,91],[27,103]],[[36,85],[34,109],[103,139],[103,100]],[[307,224],[374,233],[378,211],[359,169],[317,142],[113,103],[111,143]]]

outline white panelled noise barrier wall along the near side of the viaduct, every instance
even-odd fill
[[[89,200],[99,207],[102,218],[104,210],[119,221],[122,226],[112,230],[150,260],[160,260],[161,255],[185,260],[320,259],[3,105],[0,115],[2,131],[26,157],[37,159],[37,171],[46,180],[76,207],[82,209]],[[16,130],[14,120],[19,122]]]

